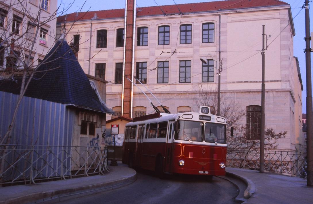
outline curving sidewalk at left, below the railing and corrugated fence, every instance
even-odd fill
[[[58,201],[60,197],[81,192],[92,194],[103,189],[120,188],[136,180],[136,171],[123,164],[109,166],[109,169],[110,173],[106,172],[105,175],[0,187],[0,203]]]

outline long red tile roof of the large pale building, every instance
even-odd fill
[[[217,10],[229,10],[229,9],[241,9],[241,8],[254,8],[264,6],[278,6],[288,5],[288,3],[279,0],[228,0],[228,1],[214,1],[204,3],[186,3],[176,5],[160,6],[164,13],[179,14],[179,10],[182,13],[193,12],[205,12],[205,11],[217,11]],[[158,6],[149,6],[137,8],[137,16],[150,16],[150,15],[163,15],[161,9]],[[179,9],[178,9],[179,8]],[[78,13],[70,13],[66,16],[66,21],[74,20],[89,20],[97,14],[97,19],[110,19],[110,18],[124,18],[124,9],[112,9],[102,11],[89,11]],[[77,15],[77,16],[76,16]],[[65,15],[59,16],[57,22],[64,22]]]

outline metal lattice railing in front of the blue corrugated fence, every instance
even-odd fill
[[[104,174],[107,147],[0,145],[0,184]]]

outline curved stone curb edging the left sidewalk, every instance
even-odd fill
[[[63,200],[65,197],[68,196],[76,196],[78,194],[92,194],[95,193],[96,191],[101,191],[103,189],[117,189],[126,185],[131,184],[137,179],[137,174],[132,175],[131,177],[128,178],[123,178],[120,180],[115,180],[115,181],[110,181],[110,182],[105,182],[101,184],[95,184],[95,185],[86,185],[86,186],[81,186],[77,188],[70,188],[66,190],[54,190],[54,191],[43,191],[43,192],[36,192],[33,194],[29,194],[27,196],[20,196],[12,199],[8,199],[6,201],[0,201],[2,204],[7,204],[7,203],[27,203],[30,202],[43,202],[43,201],[61,201],[62,198]],[[89,190],[89,191],[86,191]]]

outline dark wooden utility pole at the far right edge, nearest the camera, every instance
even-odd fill
[[[310,12],[309,0],[305,0],[305,70],[306,70],[306,159],[307,186],[313,186],[313,107],[311,82]]]

